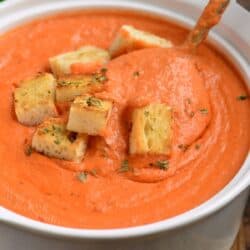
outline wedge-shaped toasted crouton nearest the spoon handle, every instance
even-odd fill
[[[109,52],[111,57],[143,48],[170,48],[173,44],[169,40],[154,34],[135,29],[130,25],[123,25],[114,39]]]

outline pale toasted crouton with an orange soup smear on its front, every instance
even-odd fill
[[[109,60],[108,51],[94,46],[84,46],[76,51],[52,57],[49,62],[53,73],[61,76],[91,73],[107,64]]]

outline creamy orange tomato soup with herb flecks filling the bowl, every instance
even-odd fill
[[[156,17],[115,11],[48,17],[0,36],[0,205],[67,227],[137,226],[198,206],[240,169],[250,144],[248,90],[207,44],[194,54],[149,48],[111,60],[98,97],[112,99],[113,109],[81,163],[27,152],[36,128],[17,122],[13,92],[20,81],[50,72],[52,56],[84,45],[107,49],[123,24],[174,45],[187,36]],[[131,156],[131,110],[155,102],[172,108],[171,154]],[[57,109],[67,119],[67,105]]]

